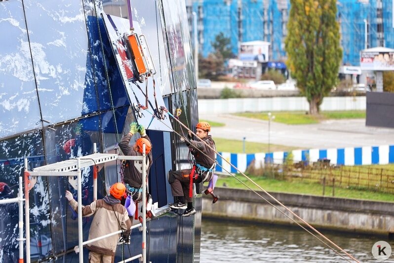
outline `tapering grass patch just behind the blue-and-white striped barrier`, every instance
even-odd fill
[[[229,140],[224,138],[213,138],[216,143],[216,149],[218,152],[231,152],[231,153],[242,153],[243,152],[243,141],[241,140]],[[291,147],[285,145],[270,144],[270,151],[291,151],[299,149],[298,147]],[[268,152],[268,144],[245,141],[245,153],[258,153]]]

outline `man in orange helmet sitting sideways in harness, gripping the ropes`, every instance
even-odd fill
[[[212,140],[212,136],[208,135],[210,131],[209,123],[199,122],[196,126],[196,134],[202,141],[193,140],[191,132],[189,132],[188,138],[181,137],[181,141],[186,143],[194,156],[193,168],[168,172],[168,182],[174,197],[174,203],[168,206],[174,209],[186,209],[183,217],[196,214],[193,207],[193,183],[212,179],[215,166],[215,142]]]

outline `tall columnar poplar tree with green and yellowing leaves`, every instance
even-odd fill
[[[338,81],[342,60],[336,0],[290,0],[287,65],[309,102],[310,114]]]

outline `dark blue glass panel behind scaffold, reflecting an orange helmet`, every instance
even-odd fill
[[[48,164],[77,158],[93,153],[93,143],[99,141],[99,116],[81,119],[78,122],[53,127],[55,131],[47,129],[45,132],[45,157]],[[104,175],[101,175],[104,176]],[[74,189],[66,177],[48,177],[49,207],[52,222],[53,251],[61,253],[71,249],[78,243],[78,220],[64,198],[65,190],[71,191],[77,198]],[[100,180],[101,181],[101,180]],[[99,183],[100,184],[100,183]],[[82,204],[88,205],[93,201],[93,167],[82,169]],[[99,185],[99,187],[102,187]],[[83,219],[84,240],[91,220]],[[67,233],[67,235],[66,235]],[[55,238],[56,237],[56,238]],[[67,238],[66,238],[67,237]]]

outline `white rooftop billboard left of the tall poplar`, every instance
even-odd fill
[[[260,63],[267,62],[269,45],[270,43],[265,41],[243,42],[239,48],[239,59]]]

